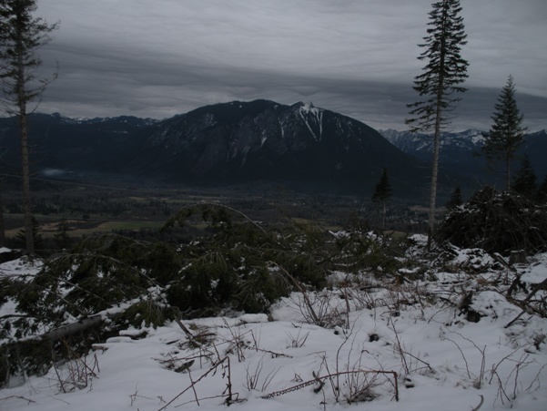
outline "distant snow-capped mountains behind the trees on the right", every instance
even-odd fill
[[[380,130],[379,132],[402,151],[417,159],[431,161],[433,143],[431,135],[393,129]],[[482,183],[501,184],[502,187],[503,173],[499,172],[501,169],[497,169],[498,172],[489,170],[486,160],[480,155],[486,134],[486,131],[475,129],[459,133],[444,133],[441,138],[441,167],[464,176],[480,177]],[[543,176],[547,174],[547,162],[545,162],[547,132],[543,129],[524,136],[522,148],[513,160],[512,170],[519,168],[522,154],[528,155],[538,180],[542,180]]]

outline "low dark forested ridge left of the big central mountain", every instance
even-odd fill
[[[119,172],[135,155],[154,120],[135,117],[73,119],[56,113],[28,116],[31,167],[59,173]],[[0,118],[4,170],[19,173],[21,155],[16,118]]]

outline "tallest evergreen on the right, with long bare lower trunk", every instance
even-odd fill
[[[441,0],[432,4],[430,22],[424,43],[425,51],[418,59],[427,61],[423,73],[414,78],[414,90],[422,100],[408,105],[412,118],[407,120],[411,131],[434,131],[431,167],[428,248],[435,229],[437,178],[441,130],[450,124],[449,113],[461,98],[455,93],[466,91],[461,83],[468,77],[469,63],[461,57],[461,46],[467,44],[460,0]]]

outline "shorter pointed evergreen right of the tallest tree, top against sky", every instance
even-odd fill
[[[524,139],[524,118],[515,100],[515,86],[512,76],[501,89],[498,102],[494,106],[493,124],[490,134],[484,139],[482,153],[489,161],[502,160],[505,165],[506,190],[511,189],[511,161]]]

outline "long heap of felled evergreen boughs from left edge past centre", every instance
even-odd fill
[[[42,373],[63,358],[67,346],[85,353],[127,326],[156,327],[230,311],[268,313],[297,283],[322,290],[338,270],[383,277],[396,276],[402,266],[398,241],[359,225],[339,233],[297,221],[266,229],[226,206],[201,204],[181,210],[166,230],[195,224],[196,217],[208,227],[186,244],[94,235],[51,257],[34,277],[0,279],[0,304],[12,300],[24,313],[4,318],[0,333],[29,341],[24,347],[4,345],[12,372],[24,366]],[[97,313],[107,321],[66,340],[40,337],[45,330],[98,318]]]

